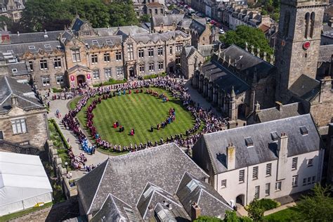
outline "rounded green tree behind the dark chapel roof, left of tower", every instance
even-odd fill
[[[226,46],[235,44],[241,48],[245,48],[247,43],[249,48],[254,46],[254,48],[260,48],[261,52],[273,54],[273,48],[270,48],[265,34],[261,30],[247,25],[239,25],[236,30],[226,32],[220,36],[220,41],[224,42]]]

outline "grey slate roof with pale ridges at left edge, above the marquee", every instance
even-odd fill
[[[14,77],[0,77],[0,114],[11,110],[11,96],[17,96],[18,107],[23,110],[44,109],[31,87],[19,81]]]

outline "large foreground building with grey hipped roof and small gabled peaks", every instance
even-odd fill
[[[232,208],[175,143],[112,157],[77,181],[89,221],[193,221]]]

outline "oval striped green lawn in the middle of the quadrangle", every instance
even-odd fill
[[[185,133],[195,124],[195,119],[180,100],[175,100],[170,93],[162,89],[154,89],[159,92],[167,93],[169,102],[163,103],[161,99],[146,93],[132,93],[126,96],[116,96],[107,100],[102,100],[96,109],[93,110],[94,126],[101,138],[112,144],[129,145],[132,143],[146,143],[148,140],[155,142],[162,137],[165,141],[167,136],[176,133]],[[143,90],[145,92],[145,89]],[[97,97],[96,97],[97,98]],[[75,98],[70,103],[70,108],[75,107],[79,98]],[[89,100],[88,105],[93,99]],[[86,125],[86,107],[78,113],[77,117],[82,125]],[[176,120],[164,129],[154,129],[150,132],[150,126],[156,127],[168,117],[169,109],[176,109]],[[113,123],[119,121],[124,126],[124,132],[119,133],[119,129],[114,129]],[[129,131],[135,129],[135,135],[129,136]]]

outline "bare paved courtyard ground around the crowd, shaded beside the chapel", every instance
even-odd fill
[[[196,103],[200,103],[200,105],[204,108],[209,109],[211,107],[211,104],[203,98],[200,93],[197,92],[196,89],[193,89],[192,86],[190,85],[190,81],[186,82],[185,87],[188,87],[188,91],[191,95],[192,100],[195,100]],[[42,93],[44,95],[44,93]],[[52,95],[52,93],[51,93]],[[51,98],[51,96],[50,96]],[[60,127],[60,130],[62,131],[63,135],[65,138],[69,138],[69,144],[73,148],[74,155],[79,155],[81,152],[84,152],[81,150],[81,145],[79,144],[79,141],[75,136],[72,134],[71,131],[68,129],[65,129],[63,124],[61,124],[61,119],[63,116],[68,112],[68,103],[70,103],[70,100],[51,100],[51,105],[50,105],[50,111],[48,113],[48,119],[55,119],[55,122],[58,124]],[[57,118],[55,116],[55,111],[59,110],[60,111],[60,118]],[[216,115],[221,115],[221,113],[217,112],[215,108],[213,108],[213,112]],[[91,144],[89,144],[91,145]],[[89,155],[87,153],[84,154],[87,158],[87,165],[97,165],[105,161],[109,157],[109,155],[106,155],[102,152],[95,152],[93,155]],[[72,178],[81,178],[81,176],[84,176],[86,174],[85,171],[72,171]]]

